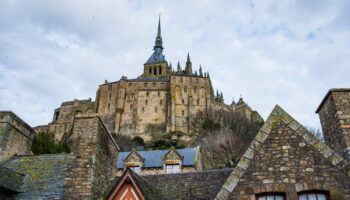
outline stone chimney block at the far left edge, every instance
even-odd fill
[[[34,130],[11,111],[0,111],[0,161],[31,155]]]

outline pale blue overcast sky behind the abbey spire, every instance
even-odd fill
[[[1,0],[0,110],[47,124],[63,101],[135,78],[152,54],[209,71],[225,102],[264,119],[279,104],[303,125],[330,88],[350,87],[350,1]]]

